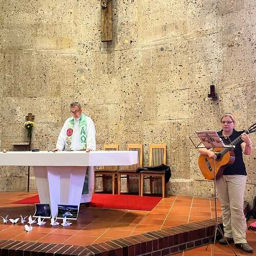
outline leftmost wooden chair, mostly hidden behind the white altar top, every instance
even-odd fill
[[[118,144],[104,144],[103,150],[106,151],[118,151]],[[95,180],[96,178],[102,177],[103,191],[110,190],[109,180],[112,180],[112,194],[115,194],[115,177],[117,174],[118,166],[102,166],[101,169],[95,170]]]

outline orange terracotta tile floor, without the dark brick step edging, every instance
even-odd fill
[[[0,215],[6,216],[9,214],[9,218],[18,218],[20,214],[23,216],[33,215],[33,205],[11,203],[34,195],[36,193],[1,192]],[[12,225],[9,222],[7,225],[3,225],[1,222],[0,239],[90,245],[146,231],[214,218],[214,209],[213,199],[185,196],[168,196],[162,199],[151,211],[86,208],[81,206],[77,221],[73,221],[73,224],[69,227],[60,225],[51,227],[49,220],[47,220],[45,226],[34,225],[32,232],[27,233],[21,224]],[[220,216],[219,202],[217,202],[217,212]],[[248,230],[247,239],[256,251],[256,232]],[[211,249],[212,245],[209,246],[207,251],[205,246],[202,246],[174,255],[210,255]],[[239,250],[235,250],[238,255],[244,255],[240,254]],[[228,246],[218,244],[215,246],[215,255],[232,255],[232,251]],[[249,255],[256,255],[256,253]]]

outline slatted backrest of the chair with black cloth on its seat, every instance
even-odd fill
[[[166,144],[150,145],[150,166],[166,164]]]

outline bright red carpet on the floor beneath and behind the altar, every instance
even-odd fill
[[[111,195],[94,194],[92,202],[88,207],[93,208],[111,208],[111,209],[129,209],[129,210],[152,210],[161,197],[139,197],[134,195]],[[39,197],[33,196],[25,198],[13,204],[35,204],[39,203]]]

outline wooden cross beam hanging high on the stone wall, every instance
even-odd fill
[[[101,1],[101,41],[113,40],[113,16],[112,16],[112,1]]]

